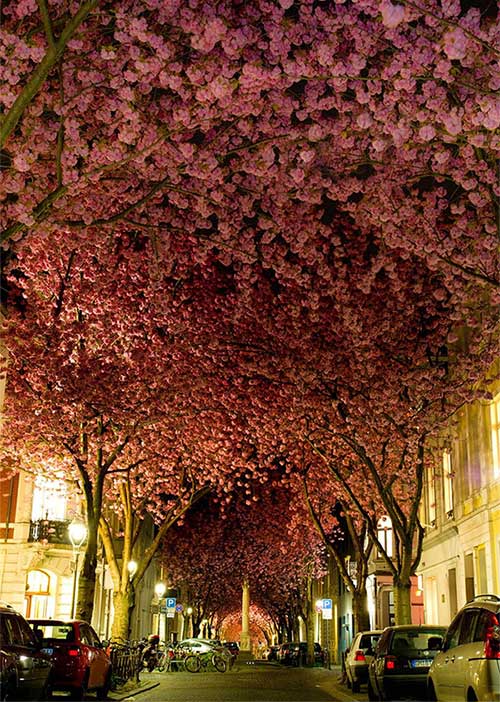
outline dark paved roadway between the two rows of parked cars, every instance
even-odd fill
[[[227,673],[141,673],[143,688],[130,691],[129,702],[362,702],[338,682],[338,672],[324,668],[286,668],[252,662]],[[113,695],[114,699],[118,696]],[[90,700],[90,694],[88,696]]]

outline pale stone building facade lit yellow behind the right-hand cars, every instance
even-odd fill
[[[425,481],[419,567],[425,621],[448,624],[474,595],[500,592],[500,387],[464,406]]]

